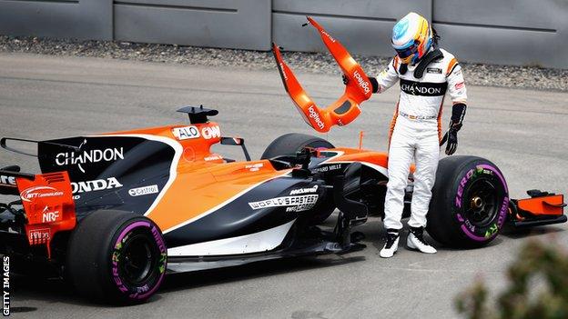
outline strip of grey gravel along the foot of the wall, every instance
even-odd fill
[[[0,35],[0,52],[93,56],[183,65],[236,66],[261,70],[275,69],[274,58],[270,52],[120,41],[78,41]],[[294,70],[340,74],[340,69],[329,54],[284,52],[283,56]],[[354,57],[370,75],[379,74],[389,60],[389,58],[378,56],[355,55]],[[462,63],[462,66],[469,85],[568,91],[568,70],[465,63]]]

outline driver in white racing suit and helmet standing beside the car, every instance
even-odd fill
[[[441,105],[448,91],[453,106],[445,153],[452,155],[458,145],[467,99],[462,67],[451,53],[437,47],[438,38],[423,16],[413,12],[405,15],[392,28],[392,47],[396,55],[379,76],[370,77],[373,93],[384,92],[397,81],[401,85],[389,137],[389,183],[384,218],[387,237],[380,250],[384,258],[396,253],[399,245],[404,193],[413,161],[416,169],[406,243],[412,250],[436,253],[424,240],[423,231],[440,155]]]

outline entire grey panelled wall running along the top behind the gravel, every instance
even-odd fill
[[[311,15],[351,53],[390,56],[410,11],[463,61],[568,68],[565,0],[0,0],[0,34],[322,51]]]

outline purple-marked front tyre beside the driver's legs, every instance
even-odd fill
[[[475,156],[441,159],[432,189],[428,234],[441,244],[475,248],[502,230],[509,191],[495,164]]]

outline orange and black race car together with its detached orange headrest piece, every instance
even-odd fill
[[[277,55],[287,90],[321,131],[349,123],[366,96],[366,75],[342,56],[359,89],[348,87],[340,103],[320,110],[289,82],[295,78]],[[88,298],[128,304],[156,293],[167,272],[364,247],[352,228],[383,214],[387,154],[288,134],[251,160],[242,138],[221,135],[209,120],[218,111],[179,111],[189,125],[48,141],[3,138],[0,146],[37,156],[41,169],[0,170],[0,194],[16,196],[0,204],[0,254],[10,256],[12,270],[51,269]],[[36,152],[18,143],[36,144]],[[211,152],[217,144],[241,147],[246,161]],[[405,216],[412,174],[407,191]],[[510,199],[501,171],[480,157],[442,159],[432,192],[428,232],[444,245],[488,244],[505,224],[566,221],[563,195],[532,191],[529,199]],[[320,226],[336,208],[335,227]]]

